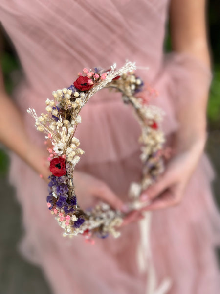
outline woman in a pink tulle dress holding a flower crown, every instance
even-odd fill
[[[165,58],[168,11],[175,53]],[[142,211],[128,216],[117,240],[89,246],[81,238],[61,236],[45,205],[46,183],[39,177],[46,180],[49,174],[44,138],[26,114],[28,107],[43,112],[51,92],[70,85],[82,68],[120,66],[129,59],[150,67],[140,75],[160,93],[154,103],[166,111],[164,131],[174,150],[158,183],[142,195],[143,201],[152,201],[147,210],[156,210],[150,241],[158,282],[169,277],[170,294],[219,293],[213,252],[213,221],[219,216],[210,192],[210,167],[201,157],[211,79],[205,0],[2,0],[0,19],[25,74],[14,93],[17,106],[1,79],[0,140],[16,154],[11,180],[23,208],[22,252],[43,268],[53,292],[138,294],[150,287],[136,258],[141,243],[136,220]],[[76,134],[86,151],[75,173],[76,192],[82,206],[95,196],[126,210],[129,184],[141,174],[140,130],[117,95],[98,94],[82,110]]]

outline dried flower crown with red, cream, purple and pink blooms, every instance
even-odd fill
[[[34,109],[27,112],[35,118],[38,131],[45,132],[46,139],[53,145],[48,148],[50,153],[49,195],[47,206],[64,229],[63,235],[83,234],[87,239],[93,236],[101,238],[112,234],[118,237],[116,230],[123,221],[123,214],[115,211],[106,203],[99,203],[92,210],[83,211],[77,203],[74,192],[73,170],[84,151],[74,136],[76,127],[81,123],[79,112],[88,100],[103,88],[114,88],[122,93],[123,101],[132,105],[142,134],[141,160],[143,162],[140,183],[132,183],[129,195],[130,208],[138,209],[143,203],[138,201],[141,192],[147,189],[157,176],[163,172],[162,148],[164,134],[159,124],[163,112],[155,106],[148,105],[146,98],[138,97],[143,89],[143,81],[134,73],[136,66],[127,62],[116,70],[116,64],[104,71],[102,68],[84,69],[69,88],[52,93],[54,99],[46,100],[46,114],[37,116]]]

